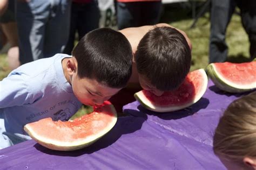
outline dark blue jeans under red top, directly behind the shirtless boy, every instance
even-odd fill
[[[154,25],[159,22],[161,2],[117,2],[118,29]]]

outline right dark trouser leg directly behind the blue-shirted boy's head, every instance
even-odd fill
[[[95,1],[80,5],[78,12],[78,36],[79,40],[84,35],[99,27],[99,8]]]

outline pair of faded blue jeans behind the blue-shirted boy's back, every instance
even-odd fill
[[[17,1],[21,63],[62,53],[69,38],[70,0]]]

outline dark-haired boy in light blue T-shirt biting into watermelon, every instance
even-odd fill
[[[120,32],[91,31],[72,55],[27,63],[0,81],[0,148],[31,139],[23,131],[27,123],[46,117],[67,121],[82,103],[102,104],[131,76],[131,45]]]

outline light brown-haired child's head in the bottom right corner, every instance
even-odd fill
[[[213,150],[228,169],[256,169],[256,91],[228,106],[215,130]]]

